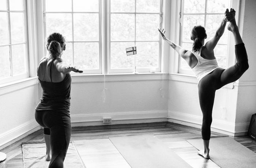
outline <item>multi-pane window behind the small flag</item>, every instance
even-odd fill
[[[109,72],[149,72],[155,67],[160,72],[161,0],[109,1]],[[126,56],[125,48],[137,47],[135,56]]]

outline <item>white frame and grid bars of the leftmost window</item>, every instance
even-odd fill
[[[28,38],[28,26],[27,26],[28,25],[27,1],[22,0],[23,1],[23,10],[10,10],[10,3],[9,3],[10,0],[5,0],[5,1],[6,1],[7,10],[0,10],[0,12],[7,12],[9,43],[4,44],[4,45],[0,45],[0,47],[9,46],[10,76],[0,79],[0,84],[10,83],[10,82],[13,82],[13,81],[17,81],[17,80],[21,80],[21,79],[25,79],[25,78],[30,77],[29,42],[28,42],[29,38]],[[23,13],[23,15],[24,15],[24,33],[25,33],[25,41],[24,42],[12,44],[10,12]],[[21,44],[25,44],[25,50],[26,51],[25,51],[25,61],[24,62],[25,62],[26,72],[13,76],[13,71],[12,71],[12,46],[21,45]]]

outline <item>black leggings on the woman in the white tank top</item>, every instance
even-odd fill
[[[217,68],[200,80],[198,84],[198,95],[201,110],[203,112],[202,138],[210,140],[212,107],[215,91],[224,85],[238,80],[249,68],[248,57],[244,43],[235,45],[237,63],[227,69]]]

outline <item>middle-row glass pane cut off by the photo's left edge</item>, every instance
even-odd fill
[[[7,12],[0,12],[0,45],[9,43]]]

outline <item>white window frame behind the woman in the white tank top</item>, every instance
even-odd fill
[[[236,20],[237,20],[237,24],[239,24],[238,22],[238,15],[239,15],[239,1],[240,0],[230,0],[230,6],[232,6],[232,8],[234,8],[237,12],[236,12]],[[206,0],[206,3],[207,3],[207,0]],[[207,5],[207,4],[206,4]],[[177,37],[177,41],[176,43],[178,43],[179,45],[182,44],[182,35],[183,35],[183,32],[182,32],[182,20],[183,20],[183,6],[184,6],[184,0],[182,1],[178,1],[176,0],[176,8],[177,8],[177,11],[176,11],[176,15],[178,16],[177,20],[176,20],[176,29],[179,30],[178,32],[178,37]],[[207,7],[207,6],[206,6]],[[211,15],[211,13],[207,13],[207,8],[205,8],[205,11],[204,13],[200,13],[200,14],[203,14],[204,15],[204,27],[206,26],[206,17],[207,15]],[[218,15],[218,14],[222,14],[222,13],[214,13],[214,15]],[[187,14],[185,14],[187,15]],[[191,14],[189,14],[191,15]],[[195,14],[195,15],[198,15],[198,14]],[[238,25],[239,27],[239,25]],[[225,28],[226,29],[226,28]],[[227,30],[225,30],[227,31]],[[192,43],[192,42],[191,42]],[[223,45],[222,43],[218,43],[218,45]],[[225,44],[226,45],[226,44]],[[226,67],[229,67],[231,65],[234,64],[234,62],[236,61],[236,58],[234,57],[234,39],[233,39],[233,35],[229,32],[228,33],[228,40],[227,40],[227,62],[226,62]],[[174,73],[180,73],[180,74],[187,74],[187,75],[194,75],[193,71],[191,69],[187,70],[187,69],[181,69],[180,68],[180,62],[181,62],[181,57],[177,54],[177,53],[174,53],[174,57],[176,58],[176,67],[174,69]],[[174,65],[175,66],[175,65]]]

